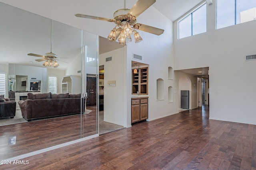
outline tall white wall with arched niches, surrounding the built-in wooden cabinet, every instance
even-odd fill
[[[150,18],[150,20],[148,20]],[[129,43],[127,45],[127,124],[130,124],[131,113],[131,85],[132,72],[131,61],[132,54],[141,55],[142,61],[149,65],[148,70],[148,121],[178,113],[178,98],[173,98],[173,102],[168,102],[168,87],[172,86],[173,90],[178,90],[173,80],[168,79],[168,67],[174,67],[173,42],[172,42],[172,21],[163,16],[155,8],[148,8],[140,15],[140,20],[146,25],[152,25],[164,29],[162,35],[153,35],[138,31],[143,39],[140,43]],[[164,100],[157,100],[156,80],[164,80]]]

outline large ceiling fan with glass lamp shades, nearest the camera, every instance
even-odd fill
[[[142,41],[142,38],[135,29],[155,35],[161,35],[162,33],[164,33],[164,29],[152,27],[142,23],[136,23],[136,18],[140,14],[142,14],[142,12],[152,6],[152,4],[154,4],[155,2],[156,0],[138,0],[136,4],[134,4],[132,9],[126,9],[126,2],[124,0],[124,9],[117,10],[114,13],[114,19],[88,16],[84,14],[76,14],[75,16],[81,18],[90,18],[94,20],[114,22],[116,23],[116,26],[108,35],[108,39],[110,41],[116,41],[116,37],[118,37],[119,44],[126,45],[126,43],[132,41],[130,35],[132,35],[132,32],[134,32],[135,43],[138,43]]]

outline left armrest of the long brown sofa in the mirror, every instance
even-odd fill
[[[29,120],[32,118],[32,100],[20,100],[18,102],[22,116]]]

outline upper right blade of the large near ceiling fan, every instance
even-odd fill
[[[154,4],[156,0],[138,0],[136,4],[130,9],[128,14],[138,17],[142,12],[148,9],[152,4]]]

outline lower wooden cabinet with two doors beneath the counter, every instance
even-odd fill
[[[132,123],[148,119],[148,97],[132,98]]]

